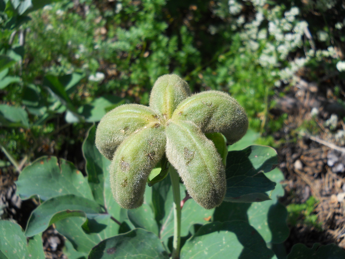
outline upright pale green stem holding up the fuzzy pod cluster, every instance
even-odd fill
[[[169,166],[169,174],[174,196],[174,240],[172,241],[171,259],[180,258],[181,241],[181,196],[180,196],[180,177],[173,166]]]

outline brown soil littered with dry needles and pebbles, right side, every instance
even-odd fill
[[[337,243],[345,249],[344,107],[336,103],[331,89],[297,78],[272,113],[288,113],[285,126],[275,136],[285,140],[277,148],[286,179],[282,202],[300,204],[314,196],[318,200],[314,213],[322,223],[322,230],[301,223],[291,226],[287,250],[296,243],[311,247],[316,242]],[[329,125],[331,117],[333,126]]]

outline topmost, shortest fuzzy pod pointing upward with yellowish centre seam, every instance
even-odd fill
[[[178,75],[164,75],[157,79],[150,95],[150,107],[169,119],[177,105],[190,95],[185,80]]]

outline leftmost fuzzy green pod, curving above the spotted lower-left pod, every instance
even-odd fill
[[[99,122],[96,146],[102,155],[112,160],[116,148],[127,136],[150,123],[159,123],[151,108],[139,104],[120,105]]]

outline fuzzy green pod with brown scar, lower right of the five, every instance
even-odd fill
[[[226,191],[225,170],[215,145],[192,122],[168,122],[166,155],[189,195],[203,208],[218,206]]]

